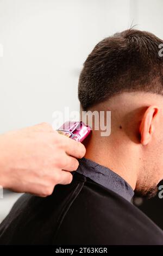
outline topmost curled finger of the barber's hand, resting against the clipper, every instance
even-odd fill
[[[62,136],[62,139],[64,139],[65,151],[68,155],[76,158],[82,158],[85,155],[86,149],[82,143],[66,136]]]

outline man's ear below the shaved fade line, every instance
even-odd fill
[[[158,115],[159,107],[150,106],[143,114],[143,118],[140,123],[139,131],[141,135],[141,144],[147,145],[151,141],[152,134],[155,127],[155,118]]]

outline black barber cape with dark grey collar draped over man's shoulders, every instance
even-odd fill
[[[0,244],[163,245],[162,230],[130,203],[133,194],[116,173],[82,159],[70,185],[17,200],[0,225]]]

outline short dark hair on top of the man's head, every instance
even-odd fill
[[[99,42],[79,77],[78,97],[86,111],[122,92],[162,94],[163,57],[154,34],[128,29]]]

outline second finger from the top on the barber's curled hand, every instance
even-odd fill
[[[61,169],[68,170],[69,172],[72,172],[73,170],[76,170],[79,166],[79,162],[76,158],[72,156],[68,156],[65,154],[65,156],[62,158],[62,167]]]

